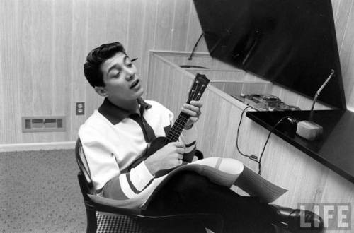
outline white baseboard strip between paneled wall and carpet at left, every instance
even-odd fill
[[[0,152],[23,151],[23,150],[59,150],[74,149],[75,141],[54,143],[16,143],[0,144]]]

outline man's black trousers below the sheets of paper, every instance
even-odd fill
[[[224,219],[224,232],[274,232],[275,213],[270,205],[260,203],[258,198],[240,196],[193,171],[176,174],[159,187],[149,200],[146,212],[152,215],[217,213]],[[198,225],[178,222],[162,232],[198,232],[203,227],[213,230],[210,222]]]

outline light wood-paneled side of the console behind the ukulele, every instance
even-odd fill
[[[158,54],[151,54],[151,70],[147,97],[169,107],[176,115],[185,102],[194,78],[189,73]],[[202,96],[202,115],[197,122],[197,147],[205,157],[232,157],[258,171],[256,162],[249,160],[236,149],[236,131],[245,104],[235,100],[213,85],[208,85]],[[244,116],[239,133],[239,148],[246,155],[259,157],[269,131]],[[288,189],[275,201],[278,205],[298,208],[307,203],[314,211],[314,203],[351,203],[354,205],[354,184],[328,167],[302,153],[278,136],[270,136],[262,158],[262,177]],[[244,194],[239,189],[234,189]],[[323,216],[323,214],[321,214]],[[333,213],[333,219],[336,219]],[[350,222],[354,227],[354,215]],[[332,222],[333,223],[333,222]],[[333,232],[327,230],[325,232]],[[335,232],[350,232],[336,230]]]

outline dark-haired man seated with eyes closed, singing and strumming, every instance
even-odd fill
[[[181,109],[190,118],[180,140],[132,167],[154,138],[166,136],[173,114],[158,102],[142,100],[144,89],[137,68],[119,42],[93,49],[84,73],[98,95],[105,97],[79,130],[98,195],[120,200],[124,208],[142,208],[157,215],[219,213],[224,217],[225,232],[273,232],[272,224],[281,222],[296,229],[300,215],[307,222],[321,222],[311,212],[268,205],[231,191],[232,184],[246,179],[246,167],[237,160],[207,158],[181,166],[195,151],[193,125],[202,107],[198,101]],[[185,167],[188,169],[184,171]],[[156,172],[166,169],[183,171],[155,177]]]

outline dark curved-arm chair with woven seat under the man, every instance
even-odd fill
[[[93,184],[90,178],[89,171],[86,170],[87,162],[82,149],[80,138],[76,141],[75,146],[76,162],[79,165],[80,172],[77,175],[79,179],[79,185],[82,196],[84,198],[84,204],[86,208],[87,217],[87,229],[86,232],[96,232],[100,225],[107,225],[118,222],[119,225],[124,225],[123,230],[118,232],[169,232],[166,229],[161,229],[161,226],[173,226],[173,223],[181,224],[181,222],[212,222],[215,225],[215,232],[222,232],[223,219],[221,215],[214,213],[186,213],[178,215],[164,215],[164,216],[152,216],[144,215],[142,211],[132,210],[127,208],[119,208],[114,205],[105,203],[105,201],[99,201],[99,199],[93,200],[90,198],[90,194],[94,193]],[[197,153],[198,158],[202,158],[202,153]],[[86,167],[85,167],[85,165]],[[102,198],[103,200],[106,198]],[[117,214],[115,216],[101,215],[98,211],[103,213]],[[139,225],[141,223],[141,225]],[[157,226],[154,227],[154,226]],[[173,228],[173,227],[172,227]],[[107,232],[107,231],[103,231]],[[191,229],[194,232],[194,229]]]

